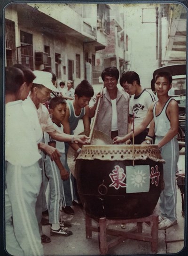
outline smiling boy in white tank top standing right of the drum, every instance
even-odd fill
[[[176,169],[179,158],[179,145],[176,138],[179,124],[178,103],[170,98],[168,91],[172,87],[172,76],[160,72],[155,77],[155,89],[158,97],[149,108],[146,118],[134,130],[134,136],[140,134],[152,119],[155,122],[155,144],[158,145],[164,163],[164,190],[160,195],[159,229],[167,229],[177,224],[176,215]],[[114,143],[122,143],[133,137],[133,131],[124,137],[115,137]]]

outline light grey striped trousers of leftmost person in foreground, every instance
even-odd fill
[[[8,192],[8,196],[6,196],[6,234],[8,236],[12,229],[8,216],[10,214],[10,202],[15,237],[24,252],[24,256],[43,255],[43,246],[35,214],[35,205],[41,181],[38,162],[30,167],[15,166],[8,162],[6,172]],[[7,237],[7,243],[9,239]],[[10,247],[8,246],[8,248]]]

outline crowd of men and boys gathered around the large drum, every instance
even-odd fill
[[[87,80],[75,89],[71,80],[67,86],[63,81],[57,86],[55,74],[46,69],[32,71],[15,64],[5,72],[5,226],[9,254],[42,256],[42,243],[51,242],[42,225],[51,225],[51,236],[72,235],[71,222],[60,216],[60,210],[74,214],[71,206],[79,203],[67,152],[71,146],[79,154],[80,145],[87,143],[99,99],[95,128],[111,137],[114,144],[133,142],[134,132],[135,144],[158,145],[165,160],[159,229],[177,224],[179,119],[178,103],[168,95],[171,74],[156,75],[154,94],[141,86],[134,71],[124,71],[118,86],[118,69],[108,67],[102,71],[103,90],[95,94]],[[74,134],[80,119],[87,136]],[[44,213],[48,219],[43,218]]]

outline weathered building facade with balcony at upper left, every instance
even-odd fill
[[[97,4],[10,4],[5,9],[5,65],[48,68],[58,82],[72,80],[74,87],[83,79],[93,84],[96,52],[107,45],[98,10]]]

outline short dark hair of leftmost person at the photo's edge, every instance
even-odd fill
[[[17,94],[21,85],[25,82],[24,73],[15,67],[5,68],[5,92],[6,94]]]

